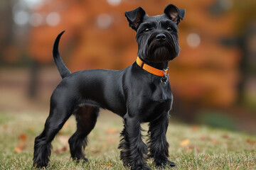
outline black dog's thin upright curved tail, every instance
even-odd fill
[[[71,74],[70,70],[65,66],[63,60],[61,59],[60,52],[58,50],[58,44],[60,42],[60,37],[61,37],[61,35],[63,35],[64,32],[65,32],[65,30],[63,30],[63,32],[61,32],[58,35],[58,37],[55,39],[55,42],[53,44],[53,59],[58,68],[58,71],[60,72],[60,76],[62,78],[68,76],[68,74]]]

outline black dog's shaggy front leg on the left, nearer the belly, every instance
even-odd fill
[[[121,133],[123,138],[119,145],[119,149],[122,149],[120,157],[124,165],[131,166],[132,170],[148,170],[150,167],[145,163],[147,147],[142,141],[139,118],[135,115],[124,115],[124,130]]]

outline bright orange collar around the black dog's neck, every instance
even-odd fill
[[[168,67],[166,69],[156,69],[154,67],[151,67],[149,64],[143,62],[139,57],[137,57],[136,62],[139,67],[142,67],[142,69],[146,70],[146,72],[150,72],[151,74],[155,74],[156,76],[165,77],[168,74]]]

